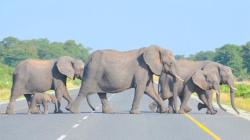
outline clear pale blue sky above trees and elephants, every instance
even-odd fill
[[[151,44],[190,55],[250,41],[249,0],[1,0],[0,40],[69,39],[92,50]]]

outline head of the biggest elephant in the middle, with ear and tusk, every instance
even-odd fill
[[[165,72],[175,78],[181,79],[178,76],[178,68],[171,51],[151,45],[146,48],[143,58],[155,75],[159,76],[162,72]]]

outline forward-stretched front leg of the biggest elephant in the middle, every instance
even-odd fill
[[[168,109],[165,108],[164,102],[163,102],[163,100],[161,99],[160,95],[157,94],[157,93],[155,92],[152,82],[150,82],[150,83],[148,84],[148,86],[146,87],[145,93],[146,93],[149,97],[151,97],[151,98],[157,103],[157,105],[160,106],[160,112],[163,113],[163,112],[167,112],[167,111],[168,111]]]

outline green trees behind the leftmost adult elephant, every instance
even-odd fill
[[[0,41],[0,62],[12,67],[27,58],[54,59],[64,55],[85,61],[89,48],[74,40],[50,42],[47,39],[19,40],[7,37]]]

